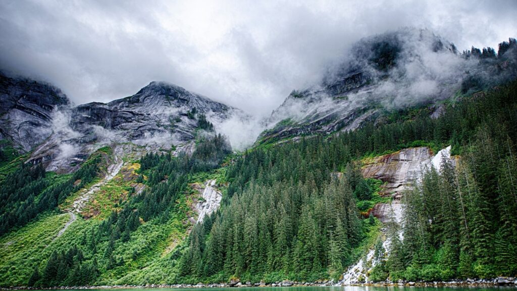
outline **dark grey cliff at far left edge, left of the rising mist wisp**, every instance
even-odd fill
[[[52,134],[53,111],[68,104],[52,85],[0,74],[0,139],[30,151]]]

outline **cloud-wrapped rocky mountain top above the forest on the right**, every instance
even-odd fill
[[[404,28],[364,38],[328,70],[320,84],[294,90],[266,121],[259,142],[300,135],[331,134],[383,122],[386,111],[429,106],[513,80],[514,40],[493,49],[459,53],[453,43],[428,30]]]

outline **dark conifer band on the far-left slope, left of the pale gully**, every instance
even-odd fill
[[[97,177],[102,156],[95,153],[71,177],[45,173],[38,164],[21,164],[0,184],[0,236],[12,227],[25,225],[39,213],[52,210],[71,193]],[[80,180],[78,185],[74,182]]]

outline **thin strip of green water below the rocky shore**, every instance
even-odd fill
[[[453,289],[453,290],[452,290]],[[110,289],[88,289],[88,291],[107,291]],[[516,291],[517,286],[448,286],[448,287],[406,287],[406,286],[336,286],[336,287],[233,287],[233,288],[131,288],[112,289],[116,291]],[[38,290],[35,290],[38,291]],[[84,291],[78,290],[78,291]]]

